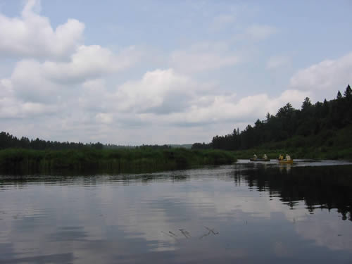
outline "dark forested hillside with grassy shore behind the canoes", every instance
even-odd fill
[[[196,143],[192,149],[224,149],[236,151],[237,157],[249,158],[253,153],[266,153],[275,158],[290,153],[292,158],[352,159],[352,89],[323,103],[312,104],[307,97],[301,110],[290,103],[276,115],[266,115],[252,127],[232,134],[213,137],[209,144]]]

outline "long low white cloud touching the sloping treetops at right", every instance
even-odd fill
[[[153,113],[143,116],[144,120],[158,120],[172,125],[210,125],[214,123],[253,123],[257,118],[264,119],[266,113],[276,113],[277,109],[290,102],[294,107],[301,102],[308,92],[287,90],[277,97],[268,94],[256,94],[237,99],[236,94],[207,95],[194,97],[187,111],[156,116]]]

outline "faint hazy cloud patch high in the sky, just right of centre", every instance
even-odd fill
[[[239,56],[222,42],[201,42],[189,49],[173,51],[170,56],[172,67],[185,73],[217,70],[239,62]]]

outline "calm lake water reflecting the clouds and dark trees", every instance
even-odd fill
[[[352,263],[352,165],[0,176],[0,263]]]

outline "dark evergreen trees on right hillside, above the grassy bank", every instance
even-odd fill
[[[311,103],[307,97],[301,109],[295,109],[290,103],[279,108],[276,115],[266,115],[265,120],[257,120],[254,126],[247,125],[246,129],[239,132],[234,129],[232,134],[215,136],[209,144],[196,143],[193,149],[224,149],[243,150],[253,149],[263,144],[284,142],[296,138],[296,144],[309,145],[301,139],[317,137],[317,145],[334,146],[337,141],[331,139],[338,130],[352,125],[352,90],[346,87],[344,95],[337,93],[337,98],[323,102]],[[300,143],[301,142],[301,143]],[[348,139],[346,144],[351,145]],[[341,144],[343,141],[340,142]],[[348,145],[348,146],[349,146]]]

